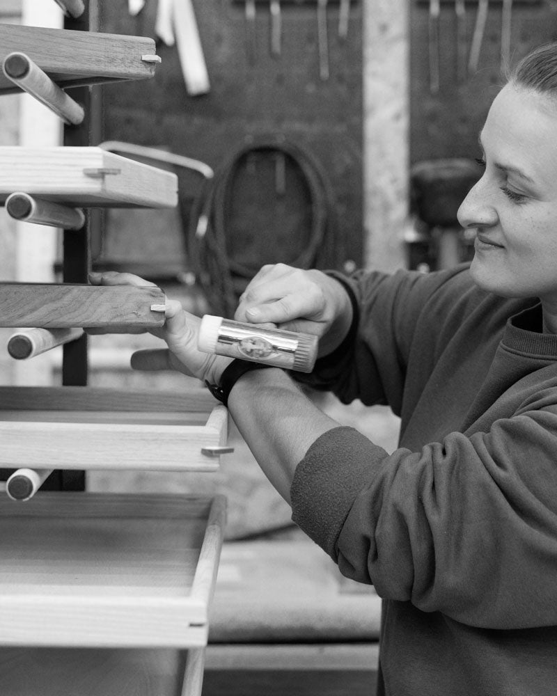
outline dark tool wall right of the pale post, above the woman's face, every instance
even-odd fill
[[[439,157],[480,156],[478,133],[489,105],[504,84],[501,72],[503,3],[488,3],[487,22],[475,70],[459,73],[459,51],[464,67],[470,57],[478,1],[466,1],[465,27],[457,36],[455,0],[441,0],[439,14],[439,89],[432,90],[430,2],[411,5],[411,162]],[[557,38],[557,4],[547,0],[515,0],[510,25],[510,65],[533,47]],[[504,40],[503,40],[504,42]],[[434,85],[433,85],[434,87]]]

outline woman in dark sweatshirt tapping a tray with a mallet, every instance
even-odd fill
[[[557,690],[557,45],[519,64],[480,143],[483,177],[459,211],[476,230],[470,267],[344,279],[279,264],[237,310],[320,335],[307,381],[389,404],[392,454],[282,370],[199,353],[198,320],[168,303],[165,365],[224,381],[293,519],[384,598],[378,693]]]

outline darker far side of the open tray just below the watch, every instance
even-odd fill
[[[104,387],[0,387],[0,410],[191,411],[210,413],[217,400],[205,387],[183,393]]]

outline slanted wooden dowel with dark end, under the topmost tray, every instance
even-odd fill
[[[4,58],[2,70],[15,85],[48,106],[65,123],[79,125],[84,120],[83,107],[58,87],[26,54],[17,51],[8,54]]]

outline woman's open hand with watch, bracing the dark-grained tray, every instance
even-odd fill
[[[92,285],[155,285],[130,273],[91,273]],[[203,353],[197,348],[201,319],[186,312],[178,300],[166,300],[166,321],[149,333],[162,338],[168,349],[141,350],[132,355],[135,370],[178,370],[190,377],[209,383],[219,383],[221,374],[231,358]],[[143,329],[143,331],[147,331]],[[89,330],[88,333],[99,333]],[[106,333],[106,332],[102,332]]]

